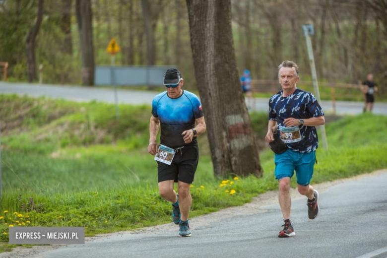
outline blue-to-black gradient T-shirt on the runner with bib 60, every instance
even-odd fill
[[[152,102],[152,115],[160,119],[161,144],[171,148],[184,146],[183,131],[193,129],[195,119],[204,116],[199,99],[187,90],[176,99],[166,91],[158,94]]]

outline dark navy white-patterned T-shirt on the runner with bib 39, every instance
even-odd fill
[[[276,120],[278,128],[279,126],[285,127],[286,118],[307,119],[323,115],[323,109],[315,96],[298,88],[288,97],[283,97],[281,90],[269,100],[269,120]],[[300,126],[299,128],[301,141],[286,143],[288,148],[299,152],[315,151],[319,146],[316,127]]]

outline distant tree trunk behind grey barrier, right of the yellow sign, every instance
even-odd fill
[[[141,0],[141,7],[146,37],[146,64],[154,65],[156,62],[156,44],[152,27],[152,10],[148,0]]]

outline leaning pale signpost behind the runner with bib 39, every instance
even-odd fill
[[[311,41],[311,37],[310,37],[310,35],[314,35],[315,32],[313,30],[312,24],[302,25],[302,30],[304,31],[304,36],[305,36],[307,48],[308,48],[308,56],[309,56],[309,64],[311,65],[313,88],[315,89],[315,95],[316,95],[317,101],[321,105],[319,83],[317,81],[315,58],[313,56],[313,47],[312,47],[312,41]],[[322,133],[324,149],[328,149],[328,141],[326,140],[325,126],[324,125],[320,126],[320,130]]]

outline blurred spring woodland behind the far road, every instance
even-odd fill
[[[82,83],[78,2],[44,1],[34,68],[37,72],[43,65],[44,83]],[[110,65],[105,49],[114,37],[121,46],[116,65],[176,66],[188,82],[185,88],[196,89],[185,0],[90,3],[95,65]],[[9,64],[9,81],[28,80],[26,40],[36,23],[38,5],[37,0],[0,3],[0,62]],[[275,79],[277,66],[286,58],[300,66],[302,80],[310,80],[302,25],[313,23],[319,80],[357,84],[372,72],[380,86],[380,98],[384,98],[387,15],[383,14],[387,14],[386,0],[233,0],[239,72],[249,69],[253,79]]]

